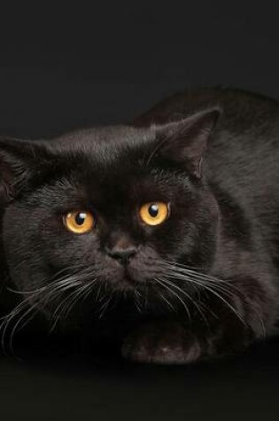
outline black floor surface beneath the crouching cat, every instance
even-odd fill
[[[188,367],[88,354],[1,361],[3,419],[277,420],[279,342]]]

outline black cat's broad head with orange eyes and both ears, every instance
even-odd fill
[[[64,288],[70,279],[133,292],[159,287],[173,263],[206,266],[217,207],[202,159],[218,114],[1,139],[2,243],[13,284]]]

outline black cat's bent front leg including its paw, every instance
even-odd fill
[[[213,296],[205,320],[196,313],[191,323],[177,317],[138,325],[124,340],[122,355],[143,363],[192,363],[244,349],[275,323],[274,297],[251,279],[245,285],[234,300]]]

